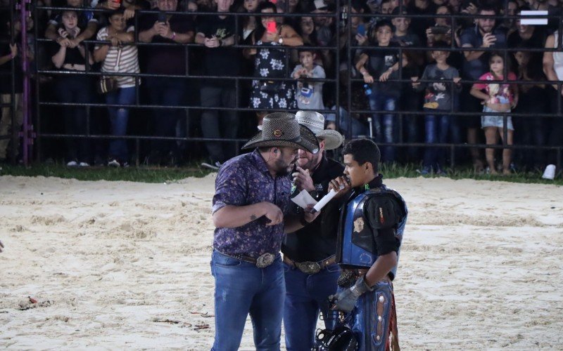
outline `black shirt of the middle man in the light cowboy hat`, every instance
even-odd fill
[[[319,167],[312,173],[312,182],[317,189],[317,200],[328,192],[329,181],[342,176],[344,166],[339,162],[322,158]],[[296,213],[297,206],[291,203],[292,212]],[[339,201],[330,201],[310,225],[295,233],[286,235],[281,245],[281,252],[296,262],[318,262],[336,252],[336,234],[339,225]]]

